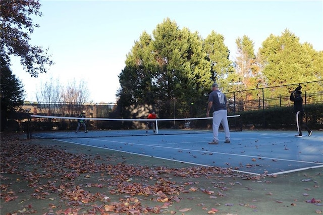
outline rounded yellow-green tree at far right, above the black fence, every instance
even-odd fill
[[[265,85],[279,86],[322,79],[322,53],[308,43],[301,44],[299,38],[285,30],[281,36],[270,35],[259,48],[259,64],[262,65]],[[311,87],[322,90],[321,84]],[[291,89],[292,90],[292,89]],[[283,94],[279,88],[268,88],[265,95]]]

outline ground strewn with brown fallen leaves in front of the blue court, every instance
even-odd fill
[[[279,176],[1,134],[1,214],[320,214],[323,169]]]

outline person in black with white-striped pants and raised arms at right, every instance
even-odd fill
[[[313,131],[310,130],[305,123],[303,123],[304,109],[303,109],[303,98],[301,96],[302,86],[296,87],[294,91],[292,91],[289,99],[294,101],[294,112],[296,116],[296,126],[298,130],[298,134],[295,137],[302,137],[302,128],[305,128],[308,132],[308,136],[311,136]]]

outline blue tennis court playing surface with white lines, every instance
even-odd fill
[[[323,167],[323,132],[314,131],[308,137],[294,137],[295,131],[242,131],[231,132],[231,143],[224,143],[223,132],[219,144],[210,145],[212,133],[171,133],[159,130],[116,131],[107,137],[79,132],[55,133],[60,142],[93,146],[102,150],[115,150],[143,156],[174,160],[201,166],[231,168],[248,174],[285,174]],[[112,131],[110,131],[112,132]],[[118,135],[120,132],[120,135]],[[121,134],[123,132],[123,134]],[[75,138],[78,137],[78,138]]]

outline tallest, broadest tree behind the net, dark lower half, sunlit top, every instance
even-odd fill
[[[170,19],[156,26],[153,38],[143,32],[127,55],[126,67],[119,75],[118,104],[156,104],[159,118],[173,116],[174,111],[176,116],[190,117],[197,112],[191,103],[204,105],[211,83],[216,80],[203,40],[196,32],[179,29]],[[209,48],[220,56],[212,59],[219,62],[216,68],[221,78],[233,72],[223,40],[222,36],[215,41],[217,46]],[[223,51],[215,48],[218,46]]]

